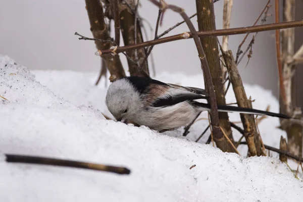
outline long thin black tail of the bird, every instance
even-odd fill
[[[210,104],[198,103],[198,102],[195,102],[195,104],[198,107],[203,108],[203,110],[205,110],[205,111],[211,110]],[[250,108],[242,108],[242,107],[228,106],[228,105],[218,105],[218,111],[219,112],[238,112],[238,113],[242,113],[242,114],[254,114],[254,115],[267,115],[267,116],[271,116],[271,117],[291,119],[291,117],[289,117],[285,114],[278,114],[278,113],[267,112],[267,111],[262,111],[262,110],[255,110],[255,109],[250,109]]]

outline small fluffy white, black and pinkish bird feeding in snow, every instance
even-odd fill
[[[164,132],[190,124],[200,112],[211,111],[210,104],[199,103],[195,99],[208,99],[207,91],[130,76],[118,79],[109,86],[106,105],[117,121],[131,121]],[[284,114],[235,106],[218,105],[218,111],[291,118]]]

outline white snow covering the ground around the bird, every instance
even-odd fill
[[[193,142],[208,121],[159,134],[106,120],[104,78],[72,71],[32,71],[0,55],[0,201],[303,201],[303,183],[278,159],[245,158]],[[203,86],[203,76],[163,73],[165,82]],[[270,91],[246,85],[254,107],[278,111]],[[232,91],[227,103],[235,101]],[[206,117],[206,114],[201,115]],[[238,114],[230,114],[233,121]],[[278,119],[259,124],[278,146]],[[234,131],[235,139],[239,134]],[[6,163],[4,154],[35,155],[125,166],[130,175]],[[189,169],[192,165],[194,168]]]

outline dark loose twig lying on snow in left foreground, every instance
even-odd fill
[[[124,167],[107,166],[102,164],[92,164],[87,162],[69,161],[54,158],[44,158],[25,155],[6,154],[6,161],[10,163],[43,164],[52,166],[64,166],[73,168],[83,168],[89,170],[106,171],[117,174],[130,174],[130,170]]]

